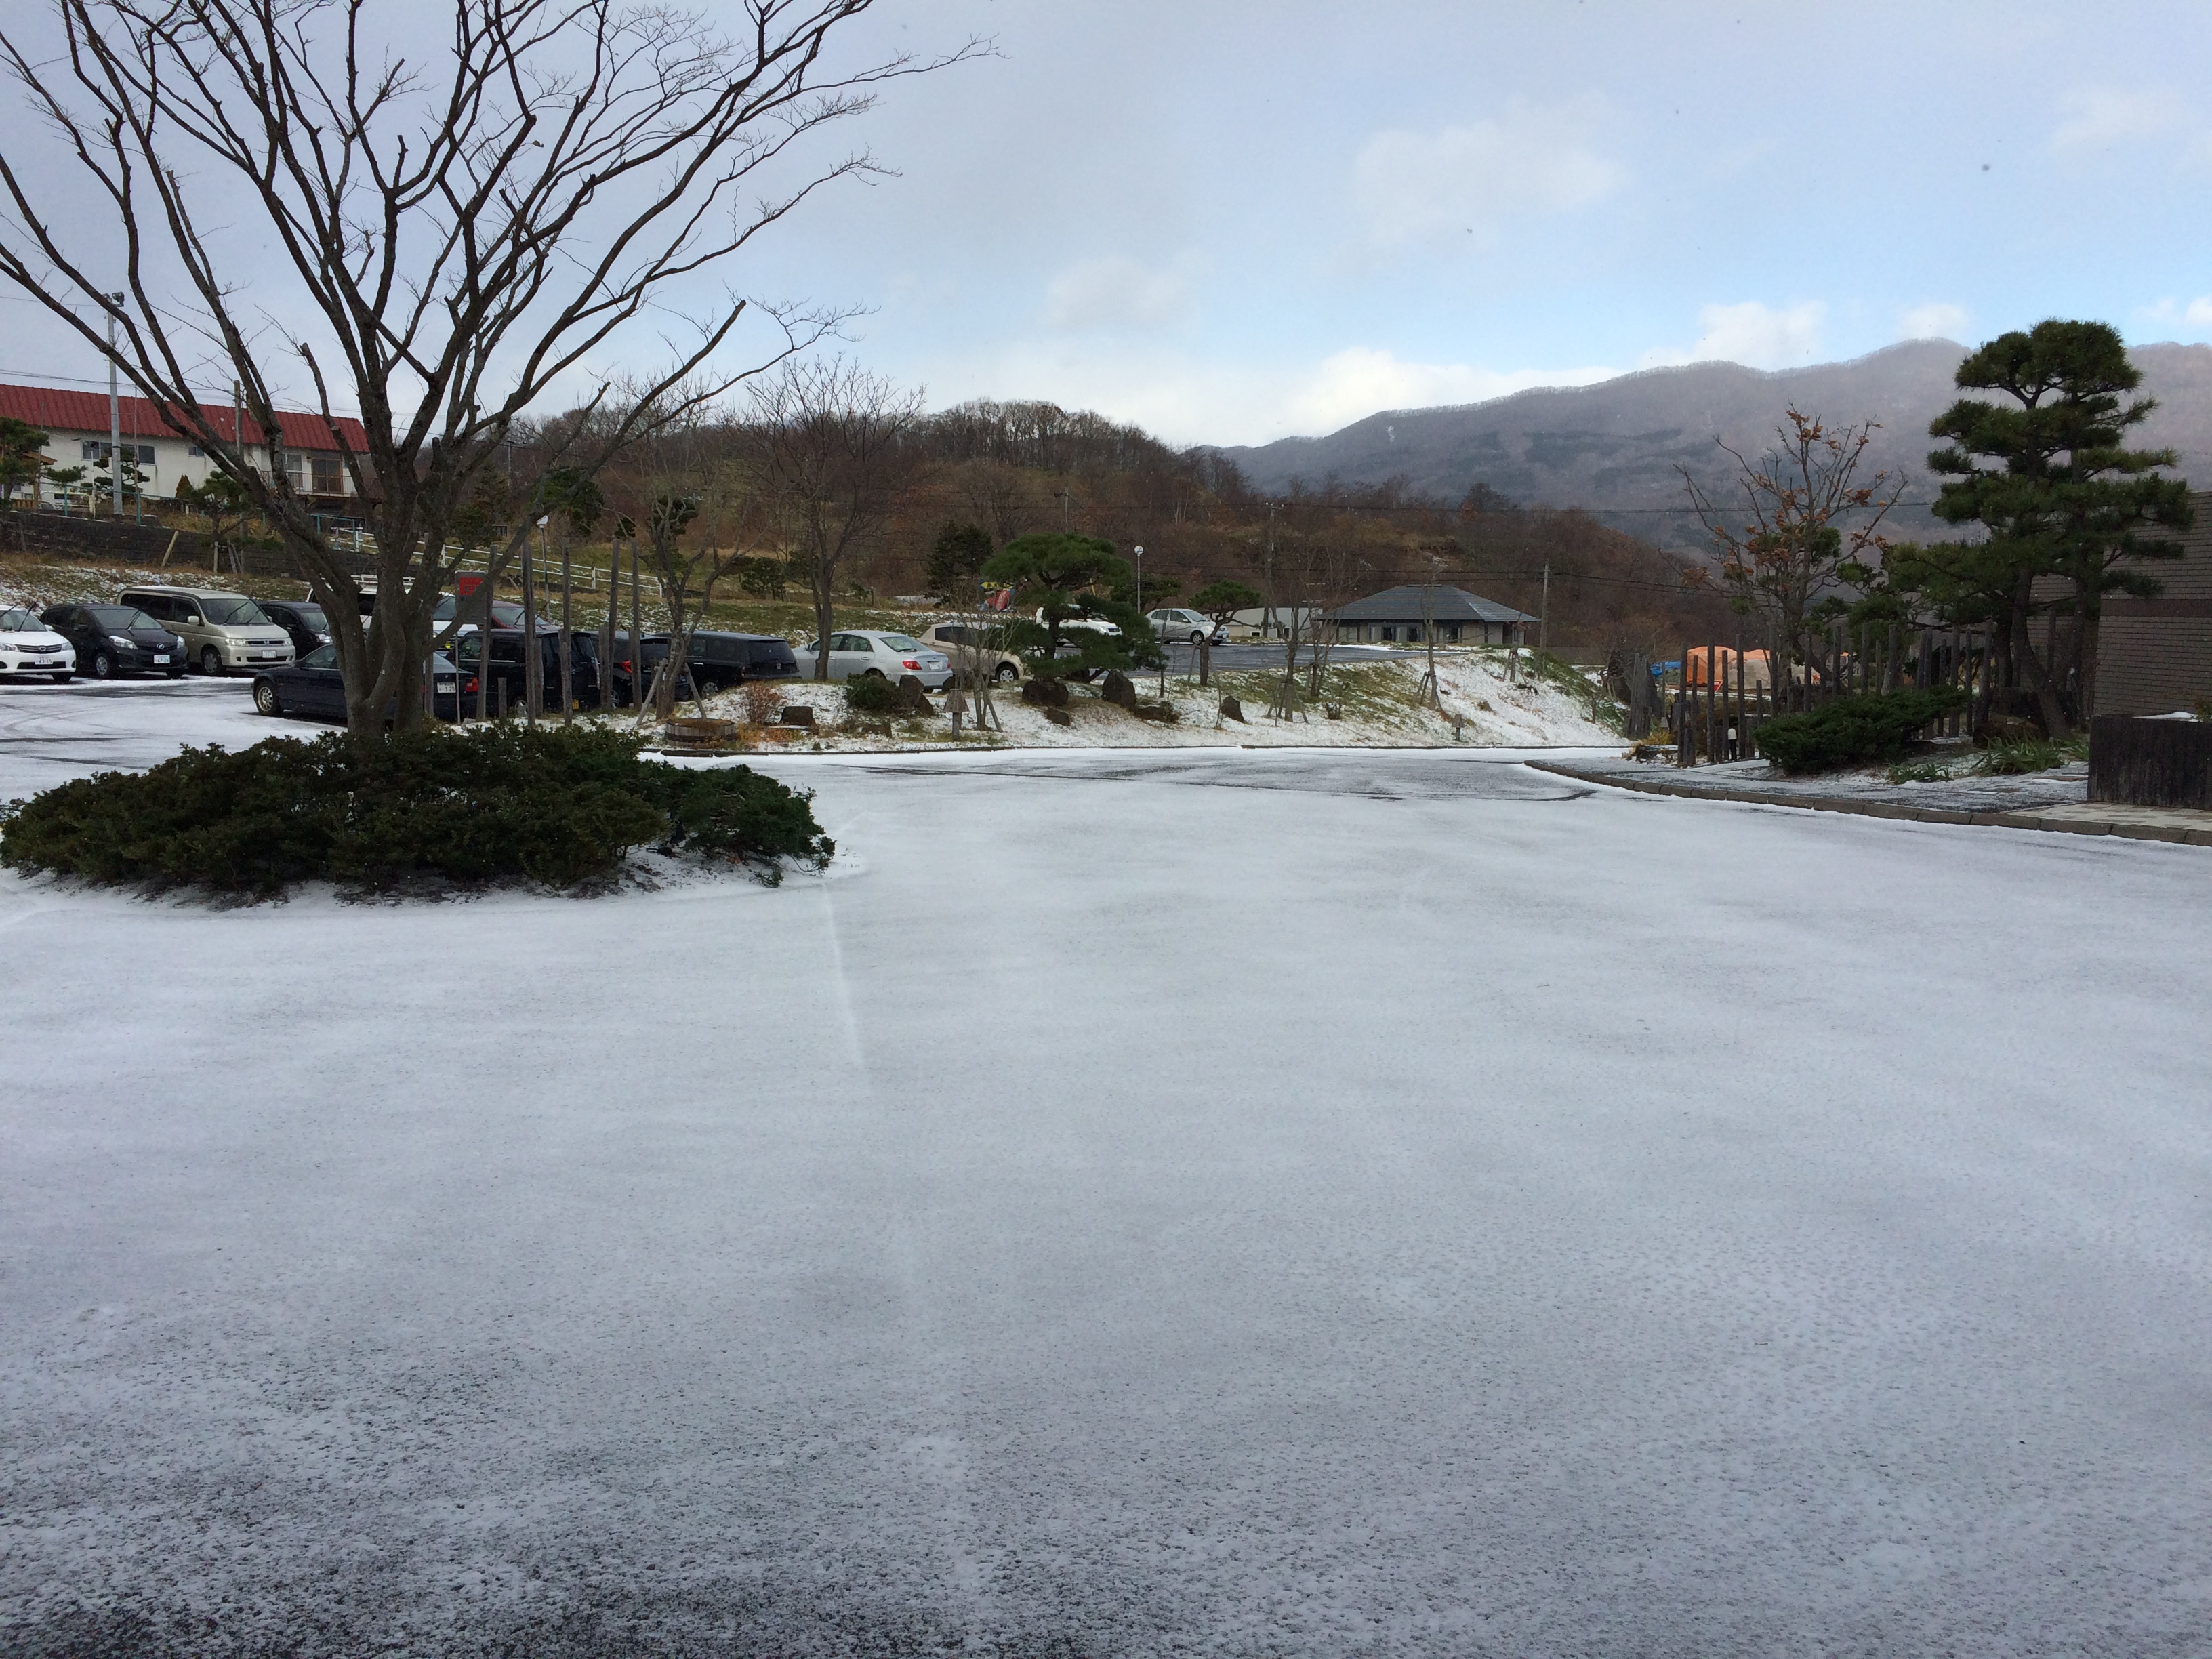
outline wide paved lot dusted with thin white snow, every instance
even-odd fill
[[[827,878],[0,880],[0,1648],[2205,1652],[2205,849],[768,770]]]

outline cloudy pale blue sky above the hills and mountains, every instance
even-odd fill
[[[838,139],[898,177],[730,272],[872,307],[852,349],[940,407],[1259,442],[2051,314],[2212,338],[2201,2],[880,0],[847,46],[969,33]],[[9,378],[97,374],[0,325]]]

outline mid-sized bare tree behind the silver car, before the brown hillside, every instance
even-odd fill
[[[752,385],[761,482],[790,560],[814,595],[814,679],[830,679],[836,580],[920,465],[909,438],[922,394],[845,358],[790,361]]]

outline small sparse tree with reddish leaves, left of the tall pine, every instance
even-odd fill
[[[1736,462],[1730,509],[1699,489],[1686,467],[1674,469],[1721,555],[1721,588],[1739,613],[1763,611],[1776,626],[1785,653],[1776,684],[1820,595],[1838,580],[1871,575],[1882,562],[1889,546],[1882,520],[1905,491],[1902,478],[1891,480],[1887,471],[1858,478],[1876,422],[1829,431],[1820,416],[1794,405],[1785,420],[1774,431],[1774,449],[1756,462],[1721,445]]]

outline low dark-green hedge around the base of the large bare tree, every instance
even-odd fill
[[[595,728],[434,726],[184,750],[148,772],[102,772],[7,807],[0,865],[279,894],[319,878],[575,887],[644,845],[816,865],[834,852],[807,796],[774,779],[661,765],[637,748]]]

